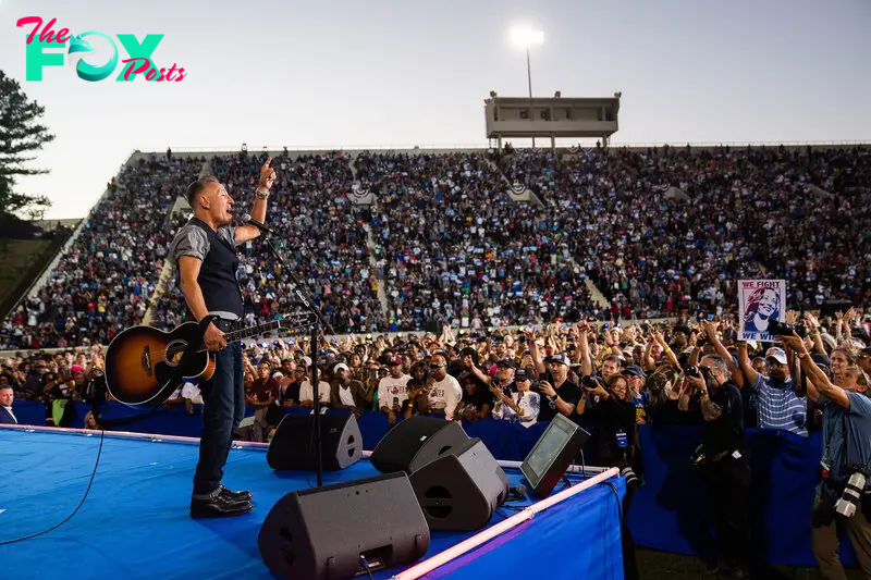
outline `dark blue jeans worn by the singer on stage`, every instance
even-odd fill
[[[218,324],[221,328],[222,324]],[[223,329],[222,329],[223,330]],[[233,433],[245,415],[245,373],[237,342],[214,356],[214,375],[200,385],[203,435],[199,462],[194,473],[194,493],[211,493],[221,484],[224,465],[233,446]]]

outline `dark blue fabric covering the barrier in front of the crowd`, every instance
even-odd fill
[[[78,404],[73,427],[82,427],[88,406]],[[15,402],[21,422],[45,423],[39,403]],[[289,409],[290,412],[309,412]],[[248,414],[253,412],[248,409]],[[135,415],[112,405],[107,416]],[[160,409],[152,417],[124,430],[140,433],[199,436],[199,409]],[[366,412],[359,420],[364,447],[373,449],[388,431],[387,416]],[[498,459],[522,461],[547,429],[547,423],[525,428],[508,421],[465,423],[469,436],[480,437]],[[639,546],[711,557],[714,554],[706,499],[689,469],[689,457],[699,442],[695,425],[642,425],[639,441],[646,485],[635,494],[629,528]],[[810,508],[821,456],[820,434],[799,437],[785,431],[747,430],[752,482],[750,491],[751,554],[758,560],[792,566],[815,566],[810,548]],[[842,558],[855,559],[849,542]]]

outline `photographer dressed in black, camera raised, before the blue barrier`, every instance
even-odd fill
[[[744,449],[744,407],[738,387],[728,380],[719,355],[702,357],[686,371],[688,412],[701,423],[701,445],[692,468],[707,492],[716,535],[715,573],[747,578],[747,494],[750,466]]]

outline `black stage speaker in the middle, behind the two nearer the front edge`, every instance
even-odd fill
[[[376,446],[369,460],[382,473],[414,473],[469,436],[455,421],[414,416],[400,421]]]

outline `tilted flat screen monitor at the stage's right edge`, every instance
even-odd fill
[[[556,414],[520,465],[532,494],[547,497],[575,461],[590,434],[574,421]]]

